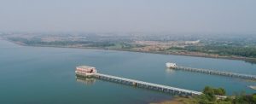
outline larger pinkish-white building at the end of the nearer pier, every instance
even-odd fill
[[[96,67],[93,66],[77,66],[75,72],[79,75],[91,76],[95,74],[97,70]]]

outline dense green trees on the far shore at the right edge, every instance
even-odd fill
[[[255,37],[254,37],[255,38]],[[256,41],[253,38],[212,38],[201,40],[199,44],[170,49],[201,52],[215,55],[236,55],[256,58]]]

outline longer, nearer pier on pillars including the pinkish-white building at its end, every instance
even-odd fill
[[[195,90],[184,90],[184,89],[167,86],[167,85],[162,85],[162,84],[153,84],[153,83],[143,82],[143,81],[136,80],[136,79],[122,78],[122,77],[112,76],[112,75],[108,75],[108,74],[98,73],[96,71],[96,68],[93,66],[78,66],[75,72],[76,72],[77,77],[98,78],[98,79],[107,80],[107,81],[114,82],[114,83],[131,85],[131,86],[148,89],[148,90],[157,90],[160,92],[174,94],[174,95],[188,96],[188,95],[201,95],[202,94],[202,92],[195,91]],[[226,97],[226,96],[221,96],[221,95],[216,95],[216,96],[218,98]]]

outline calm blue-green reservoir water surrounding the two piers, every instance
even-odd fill
[[[256,65],[180,55],[136,52],[26,47],[0,40],[0,103],[149,103],[172,99],[172,95],[102,80],[77,80],[75,66],[96,66],[98,72],[201,91],[206,85],[223,87],[228,95],[245,91],[255,82],[239,78],[166,69],[178,66],[218,69],[256,75]]]

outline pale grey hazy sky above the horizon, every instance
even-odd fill
[[[0,32],[256,33],[256,0],[0,0]]]

